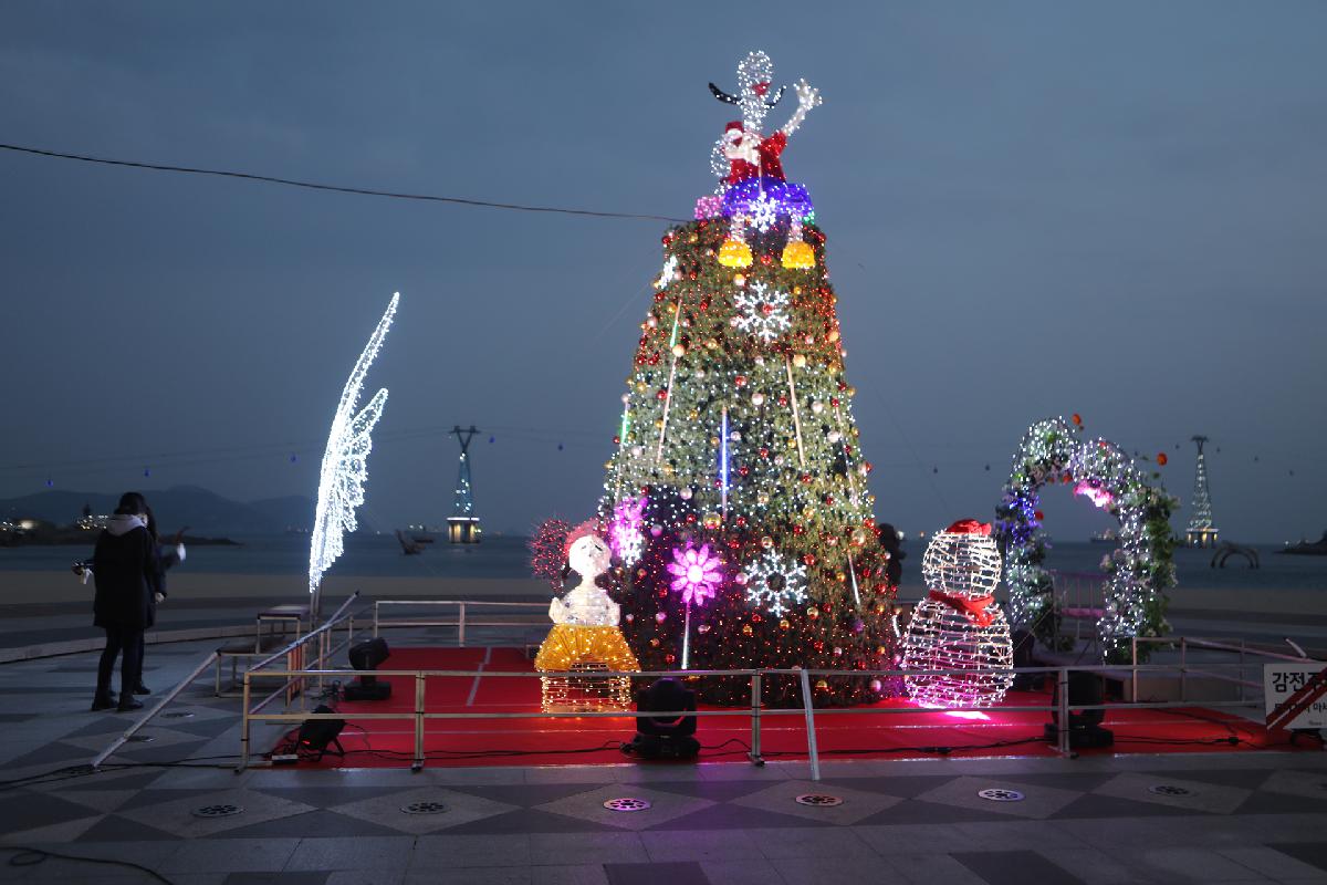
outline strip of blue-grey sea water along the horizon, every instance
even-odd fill
[[[179,568],[199,573],[303,575],[308,571],[307,535],[236,537],[238,547],[190,545]],[[904,545],[904,588],[921,586],[924,545]],[[1047,549],[1046,567],[1063,572],[1100,572],[1111,544],[1055,541]],[[1220,589],[1319,589],[1327,590],[1327,557],[1286,556],[1275,545],[1259,545],[1262,568],[1251,569],[1231,556],[1225,568],[1212,568],[1213,551],[1180,548],[1176,571],[1181,586]],[[92,545],[0,548],[0,572],[64,571],[70,563],[92,556]],[[529,552],[525,539],[487,536],[482,544],[449,544],[439,537],[422,553],[406,556],[391,535],[356,533],[345,540],[345,553],[328,572],[356,577],[525,579]]]

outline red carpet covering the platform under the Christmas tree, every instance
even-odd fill
[[[628,758],[618,744],[636,734],[629,715],[613,718],[490,719],[482,714],[540,711],[537,678],[496,673],[532,673],[519,649],[393,649],[382,670],[478,670],[480,675],[431,677],[426,681],[429,713],[466,714],[463,719],[426,719],[425,755],[429,766],[557,766],[620,763]],[[415,686],[410,677],[380,677],[391,683],[391,698],[338,705],[346,727],[340,740],[345,758],[325,755],[326,767],[402,767],[414,755],[413,718],[365,719],[357,714],[413,713]],[[1010,693],[1005,706],[1050,705],[1048,693]],[[706,709],[706,707],[702,707]],[[1052,756],[1042,736],[1044,711],[994,707],[983,714],[921,710],[906,701],[882,701],[856,710],[897,710],[874,715],[816,711],[816,739],[823,760],[904,759],[949,756]],[[1239,752],[1291,748],[1285,732],[1225,713],[1185,707],[1107,710],[1103,726],[1115,732],[1115,746],[1084,754]],[[750,718],[702,716],[697,731],[702,760],[742,760],[751,739]],[[1302,742],[1307,743],[1307,742]],[[766,710],[760,726],[766,759],[807,758],[803,711]],[[1316,748],[1316,744],[1315,747]],[[669,763],[664,763],[669,764]]]

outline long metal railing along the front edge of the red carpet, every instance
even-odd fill
[[[1218,665],[1220,666],[1220,665]],[[1084,703],[1071,703],[1070,702],[1070,673],[1071,671],[1087,671],[1119,675],[1121,670],[1132,670],[1132,673],[1165,673],[1174,671],[1180,669],[1178,665],[1169,663],[1132,663],[1132,665],[1096,665],[1096,666],[1050,666],[1050,667],[1018,667],[1014,670],[855,670],[851,674],[845,674],[843,670],[800,670],[800,669],[760,669],[760,670],[652,670],[652,671],[596,671],[593,678],[596,679],[610,679],[610,678],[661,678],[661,677],[730,677],[730,678],[744,678],[748,679],[751,687],[751,707],[750,709],[731,709],[731,710],[698,710],[698,711],[649,711],[650,715],[656,716],[747,716],[750,719],[750,750],[747,756],[755,764],[763,764],[763,758],[760,754],[760,724],[766,716],[771,715],[802,715],[805,719],[807,728],[807,752],[811,764],[811,778],[812,780],[820,779],[820,751],[816,742],[816,716],[825,715],[896,715],[896,714],[916,714],[916,707],[821,707],[816,709],[813,703],[813,694],[811,690],[812,677],[844,677],[852,675],[853,678],[898,678],[898,677],[917,677],[917,675],[985,675],[985,674],[1054,674],[1058,686],[1056,697],[1052,703],[1048,705],[1001,705],[997,707],[1001,713],[1050,713],[1054,714],[1055,722],[1058,723],[1056,730],[1056,751],[1066,758],[1075,758],[1078,754],[1071,746],[1071,714],[1091,711],[1091,710],[1120,710],[1120,709],[1133,709],[1133,710],[1156,710],[1156,709],[1174,709],[1192,706],[1185,701],[1161,701],[1161,702],[1137,702],[1136,699],[1129,703],[1099,703],[1099,705],[1084,705]],[[284,713],[284,714],[261,714],[261,707],[265,706],[271,697],[263,701],[259,706],[251,709],[248,706],[249,686],[248,679],[251,675],[245,674],[245,707],[244,707],[244,722],[242,727],[240,739],[240,763],[236,771],[243,771],[249,766],[251,759],[251,720],[259,719],[269,723],[283,723],[288,722],[292,724],[303,724],[311,720],[321,719],[340,719],[345,720],[348,715],[345,713]],[[330,678],[330,677],[354,677],[362,675],[358,670],[287,670],[277,671],[272,670],[264,677],[287,677],[288,679],[308,679],[308,678]],[[544,673],[496,673],[496,671],[483,671],[483,670],[374,670],[374,675],[382,677],[403,677],[410,678],[414,682],[414,707],[411,710],[399,710],[389,713],[360,713],[353,714],[354,719],[409,719],[413,722],[414,727],[414,754],[410,760],[410,767],[415,771],[422,770],[427,762],[427,755],[425,752],[425,724],[430,719],[593,719],[593,718],[616,718],[616,719],[633,719],[638,715],[637,711],[632,710],[608,710],[608,711],[528,711],[528,713],[430,713],[426,707],[426,683],[433,678],[476,678],[476,677],[490,677],[490,678],[541,678],[547,674]],[[760,689],[763,681],[770,677],[791,677],[796,679],[800,685],[802,706],[800,707],[764,707],[760,702]],[[585,678],[583,675],[583,678]],[[1204,702],[1205,709],[1218,709],[1218,707],[1246,707],[1250,706],[1245,701],[1238,702]],[[990,706],[970,706],[970,707],[946,707],[943,710],[937,710],[937,713],[987,713]],[[961,748],[961,747],[955,747]],[[268,763],[269,764],[269,763]]]

